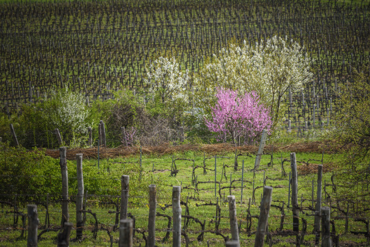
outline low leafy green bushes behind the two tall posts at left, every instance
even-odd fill
[[[76,161],[67,161],[68,192],[77,194]],[[33,199],[45,200],[47,193],[53,198],[59,198],[62,193],[61,171],[59,159],[46,156],[42,150],[27,151],[22,147],[9,147],[7,143],[0,144],[0,191],[3,194],[29,194]],[[130,176],[130,196],[132,202],[138,202],[146,197],[148,186],[156,183],[152,174],[141,171],[138,163],[112,164],[105,163],[98,169],[96,161],[83,161],[85,191],[97,195],[120,195],[121,176]]]

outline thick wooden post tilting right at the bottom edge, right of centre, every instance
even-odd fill
[[[269,212],[272,200],[272,187],[264,187],[264,195],[261,202],[260,217],[258,217],[258,226],[255,233],[254,246],[260,247],[264,245],[264,238],[266,233],[266,228],[269,220]]]

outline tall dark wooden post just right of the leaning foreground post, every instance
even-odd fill
[[[293,231],[299,232],[300,227],[300,208],[298,205],[298,177],[297,177],[297,161],[295,153],[290,153],[290,168],[291,168],[291,206],[293,212]]]

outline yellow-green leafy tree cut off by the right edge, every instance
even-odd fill
[[[370,64],[363,71],[354,72],[353,78],[339,93],[335,124],[328,132],[328,138],[338,142],[345,158],[341,162],[338,179],[341,183],[338,193],[342,198],[355,200],[363,196],[362,206],[368,208],[367,190],[354,193],[355,186],[368,188],[370,184]],[[351,181],[349,184],[348,182]],[[358,199],[358,198],[357,198]]]

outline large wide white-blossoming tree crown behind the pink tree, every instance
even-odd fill
[[[276,125],[282,119],[279,109],[288,89],[300,90],[312,80],[310,62],[303,48],[287,38],[275,36],[255,46],[244,41],[241,46],[231,44],[222,49],[218,57],[213,55],[195,84],[204,105],[211,102],[216,87],[241,93],[256,91],[269,106]]]

